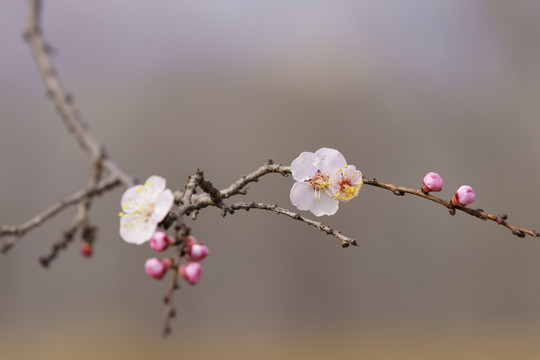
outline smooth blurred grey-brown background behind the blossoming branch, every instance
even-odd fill
[[[22,41],[26,2],[0,3],[0,223],[83,187],[88,156],[46,98]],[[540,227],[538,1],[46,1],[45,38],[90,131],[120,166],[183,188],[224,187],[266,158],[341,150],[364,175]],[[292,207],[291,178],[246,200]],[[147,246],[118,235],[123,190],[92,208],[95,255],[37,262],[75,209],[0,258],[2,359],[508,359],[540,353],[540,242],[411,196],[365,186],[324,222],[256,210],[190,222],[202,281],[148,278]],[[307,214],[306,214],[307,215]]]

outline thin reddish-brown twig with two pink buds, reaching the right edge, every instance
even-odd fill
[[[436,196],[427,194],[427,193],[423,192],[421,189],[407,188],[407,187],[404,187],[404,186],[396,186],[396,185],[392,185],[392,184],[387,184],[387,183],[380,182],[380,181],[376,180],[375,178],[368,179],[366,177],[363,177],[363,180],[364,180],[364,184],[366,184],[366,185],[376,186],[376,187],[380,187],[382,189],[390,190],[391,192],[394,193],[394,195],[397,195],[397,196],[403,196],[403,195],[405,195],[407,193],[407,194],[416,195],[416,196],[419,196],[421,198],[436,202],[437,204],[440,204],[440,205],[448,208],[450,210],[450,215],[454,215],[456,210],[460,210],[460,211],[463,211],[466,214],[475,216],[475,217],[477,217],[479,219],[482,219],[484,221],[485,220],[495,221],[497,224],[503,225],[503,226],[507,227],[508,229],[510,229],[510,231],[512,231],[512,234],[514,234],[514,235],[516,235],[518,237],[525,237],[525,234],[533,236],[533,237],[539,237],[540,236],[540,233],[538,231],[536,231],[536,230],[528,230],[528,229],[517,227],[517,226],[514,226],[514,225],[508,223],[506,221],[506,219],[508,219],[508,215],[506,215],[506,214],[494,215],[494,214],[489,214],[489,213],[485,212],[483,209],[471,209],[471,208],[468,208],[466,206],[452,205],[450,201],[446,201],[446,200],[443,200],[443,199],[438,198]]]

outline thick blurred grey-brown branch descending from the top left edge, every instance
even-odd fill
[[[62,88],[60,81],[56,75],[56,71],[52,66],[49,52],[50,47],[47,46],[42,38],[41,26],[41,0],[30,0],[28,7],[28,17],[24,28],[24,38],[28,41],[34,54],[37,66],[43,77],[47,95],[54,102],[56,109],[67,128],[77,138],[81,147],[90,154],[93,161],[97,161],[105,153],[104,147],[97,142],[84,127],[80,121],[77,112],[70,105],[72,101],[66,91]],[[110,175],[120,179],[127,187],[135,184],[133,176],[123,172],[118,165],[112,160],[105,158],[103,166]]]

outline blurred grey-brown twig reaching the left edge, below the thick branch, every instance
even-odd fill
[[[121,184],[121,181],[116,177],[110,177],[109,179],[104,180],[97,186],[79,190],[75,194],[63,200],[60,200],[60,202],[54,204],[41,214],[33,217],[32,219],[26,221],[23,224],[0,226],[0,238],[6,235],[13,236],[11,239],[4,243],[4,245],[0,249],[0,252],[5,253],[9,251],[13,244],[15,244],[15,242],[17,242],[17,240],[24,236],[28,231],[41,225],[43,222],[52,218],[54,215],[58,214],[65,208],[71,205],[78,204],[85,197],[94,197],[97,195],[101,195],[103,192],[111,190]]]

